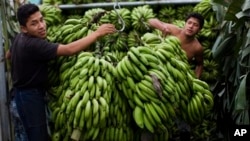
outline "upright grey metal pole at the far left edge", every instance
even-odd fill
[[[0,14],[3,13],[2,10]],[[5,73],[5,55],[4,55],[4,42],[3,42],[3,22],[2,16],[0,16],[0,128],[1,128],[1,140],[2,141],[11,141],[10,135],[10,118],[9,110],[7,104],[7,85],[6,85],[6,73]],[[7,41],[5,41],[7,42]]]

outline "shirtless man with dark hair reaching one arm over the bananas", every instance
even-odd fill
[[[158,19],[150,19],[148,22],[152,27],[162,31],[163,35],[174,35],[180,39],[181,47],[186,52],[188,61],[195,60],[195,74],[197,78],[200,78],[203,70],[203,48],[195,36],[202,29],[204,18],[198,13],[191,13],[185,19],[183,28]]]

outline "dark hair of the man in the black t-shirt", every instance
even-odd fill
[[[39,7],[35,4],[24,4],[17,9],[17,20],[20,25],[26,26],[28,18],[30,15],[39,11]]]

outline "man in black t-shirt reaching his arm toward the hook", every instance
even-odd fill
[[[28,141],[48,141],[45,113],[45,83],[47,63],[57,56],[74,55],[99,37],[114,33],[114,25],[103,24],[90,35],[63,45],[49,43],[46,23],[38,6],[25,4],[18,8],[17,19],[21,33],[16,36],[10,51],[14,101],[24,125]]]

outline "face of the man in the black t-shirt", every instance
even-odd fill
[[[45,39],[46,32],[46,23],[43,19],[41,12],[36,12],[32,14],[26,23],[26,26],[21,26],[21,29],[24,33],[27,33],[31,36]]]

